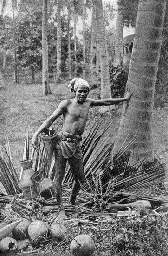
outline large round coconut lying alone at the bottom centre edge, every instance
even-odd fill
[[[95,244],[89,235],[79,235],[70,244],[71,256],[92,256]]]

